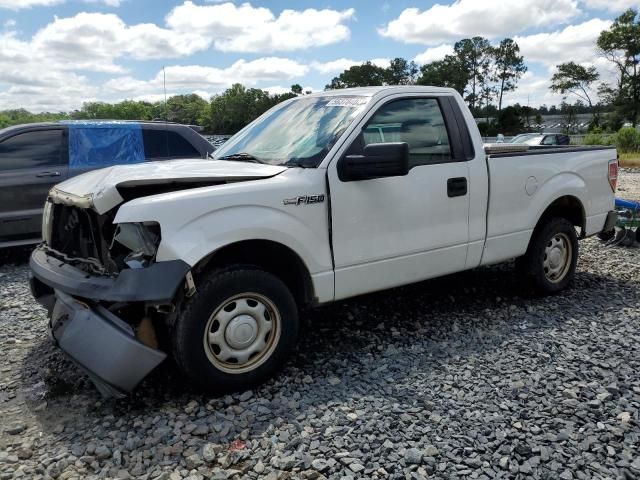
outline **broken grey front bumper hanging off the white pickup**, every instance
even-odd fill
[[[168,303],[183,285],[189,266],[159,262],[123,270],[117,277],[89,275],[37,248],[29,262],[31,292],[50,314],[54,342],[104,396],[123,396],[166,354],[144,345],[133,328],[99,302]]]

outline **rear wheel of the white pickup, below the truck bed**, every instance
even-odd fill
[[[566,261],[561,262],[560,272],[554,272],[545,266],[546,249],[553,248],[552,242],[560,240],[567,244]],[[556,252],[551,252],[555,257]],[[567,288],[572,281],[578,263],[578,236],[575,227],[564,218],[550,217],[538,224],[533,231],[527,252],[520,257],[516,265],[528,284],[538,293],[556,293]]]

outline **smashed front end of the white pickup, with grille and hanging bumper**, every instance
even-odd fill
[[[121,397],[166,358],[155,326],[170,322],[192,285],[190,267],[155,261],[157,223],[114,224],[117,209],[101,215],[68,203],[47,202],[31,290],[49,311],[55,343],[104,396]]]

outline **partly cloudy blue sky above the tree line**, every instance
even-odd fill
[[[558,104],[558,63],[595,65],[595,41],[640,0],[0,0],[0,110],[204,98],[233,83],[318,91],[345,68],[439,60],[455,41],[511,37],[528,71],[506,104]],[[163,70],[164,69],[164,70]],[[163,75],[164,72],[164,75]]]

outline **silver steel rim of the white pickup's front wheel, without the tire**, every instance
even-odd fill
[[[207,321],[204,349],[209,361],[227,373],[246,373],[262,365],[280,339],[280,312],[258,293],[235,295]]]

